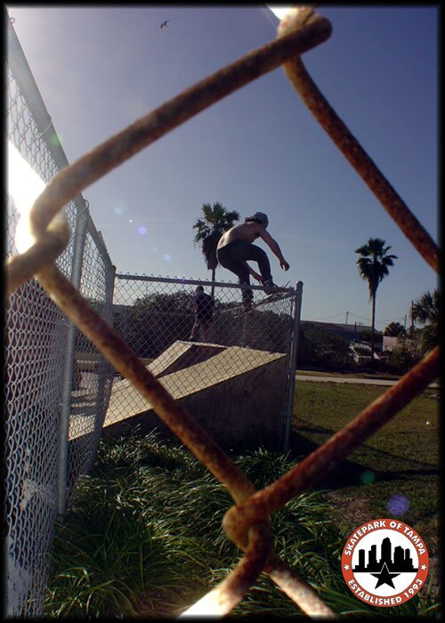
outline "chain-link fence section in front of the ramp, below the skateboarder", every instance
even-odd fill
[[[197,287],[214,307],[208,322],[195,325]],[[280,288],[277,300],[270,300],[253,286],[257,306],[244,313],[238,285],[117,274],[114,328],[221,445],[246,448],[267,437],[271,446],[283,448],[302,288],[301,282],[295,289]],[[122,433],[122,422],[136,420],[144,430],[168,432],[154,413],[147,417],[146,401],[128,381],[117,378],[105,432]]]

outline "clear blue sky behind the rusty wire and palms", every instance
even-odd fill
[[[7,4],[70,162],[183,89],[271,41],[278,19],[247,6]],[[303,62],[368,155],[438,239],[439,5],[318,5],[328,41]],[[159,28],[169,20],[167,28]],[[354,250],[398,256],[376,328],[404,323],[437,276],[320,128],[281,68],[243,87],[83,192],[118,272],[209,279],[193,245],[203,203],[269,215],[303,281],[304,320],[369,324]],[[218,280],[235,281],[218,268]],[[409,319],[408,319],[409,324]]]

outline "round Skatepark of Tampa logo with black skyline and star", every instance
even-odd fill
[[[344,581],[362,602],[387,608],[408,602],[425,585],[425,542],[406,523],[375,519],[352,532],[342,553]]]

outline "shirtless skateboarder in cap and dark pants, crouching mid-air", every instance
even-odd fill
[[[244,223],[235,225],[230,230],[225,231],[218,242],[216,255],[218,262],[229,271],[235,273],[241,285],[250,285],[250,275],[263,284],[266,295],[273,294],[276,285],[272,281],[271,263],[262,248],[253,245],[253,241],[262,238],[271,248],[271,251],[278,257],[279,265],[285,271],[289,270],[289,264],[284,259],[279,244],[266,231],[269,225],[267,214],[255,212],[253,216],[247,216]],[[261,274],[255,272],[247,263],[253,260],[258,263]],[[252,308],[254,293],[246,288],[242,290],[243,307],[245,310]]]

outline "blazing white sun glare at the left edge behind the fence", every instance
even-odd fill
[[[28,216],[45,186],[44,181],[28,165],[20,151],[8,141],[8,193],[20,214],[15,231],[15,245],[19,253],[25,253],[36,242],[29,231]]]

